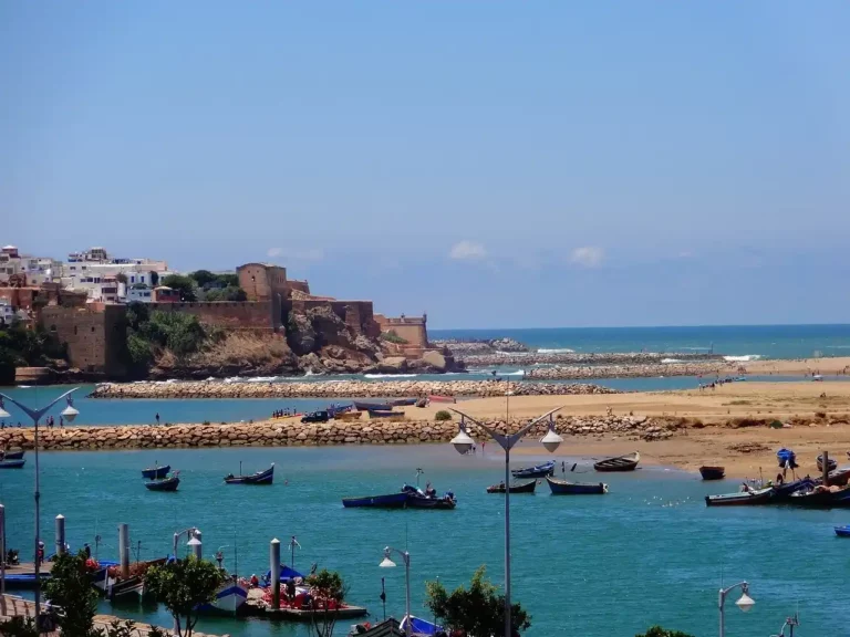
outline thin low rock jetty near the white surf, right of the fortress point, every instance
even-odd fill
[[[678,363],[711,362],[717,365],[728,365],[717,354],[659,354],[654,352],[528,352],[498,354],[464,354],[458,356],[467,367],[491,365],[672,365]]]

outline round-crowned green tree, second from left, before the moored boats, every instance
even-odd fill
[[[153,566],[145,574],[145,586],[174,617],[178,637],[190,637],[198,623],[199,606],[209,604],[224,582],[211,562],[194,556]]]

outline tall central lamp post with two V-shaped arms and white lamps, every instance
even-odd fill
[[[473,440],[469,434],[466,432],[466,419],[469,419],[481,428],[505,450],[505,637],[512,637],[510,623],[510,450],[522,439],[522,436],[545,418],[549,418],[549,430],[546,436],[540,439],[540,442],[550,453],[558,449],[560,443],[563,442],[563,438],[561,438],[554,430],[554,419],[552,416],[556,411],[560,411],[562,408],[563,407],[557,407],[548,414],[543,414],[539,418],[532,420],[516,434],[507,435],[490,429],[487,425],[479,422],[463,411],[452,409],[452,411],[460,416],[457,436],[452,439],[452,445],[458,453],[466,453],[473,448],[473,445],[475,445],[475,440]]]

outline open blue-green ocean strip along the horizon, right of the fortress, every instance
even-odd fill
[[[714,352],[727,356],[805,358],[850,355],[850,325],[706,325],[429,330],[431,338],[516,338],[531,347],[574,352]]]

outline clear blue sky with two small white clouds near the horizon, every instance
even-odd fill
[[[434,327],[847,322],[846,2],[0,3],[0,241]]]

